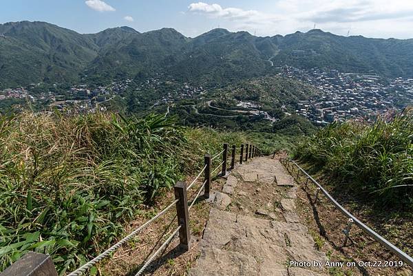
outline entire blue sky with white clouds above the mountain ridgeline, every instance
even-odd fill
[[[0,23],[47,21],[94,33],[127,25],[139,32],[164,27],[187,36],[212,28],[259,36],[316,28],[335,34],[413,38],[412,0],[2,0]]]

